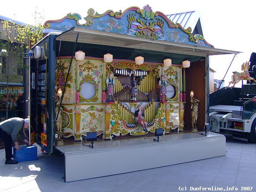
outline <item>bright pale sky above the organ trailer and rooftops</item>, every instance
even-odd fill
[[[10,2],[12,4],[10,4]],[[204,39],[217,49],[227,49],[242,52],[234,57],[230,55],[210,56],[210,67],[215,70],[214,79],[222,80],[225,76],[225,85],[231,81],[233,71],[241,72],[241,65],[250,60],[252,52],[256,52],[256,38],[254,32],[255,5],[252,0],[168,0],[168,1],[121,1],[121,0],[76,0],[76,1],[44,0],[30,3],[12,0],[1,2],[0,15],[11,19],[35,24],[35,12],[47,20],[58,20],[67,13],[78,13],[82,18],[87,16],[87,10],[93,8],[102,14],[107,10],[122,12],[131,6],[140,9],[145,5],[151,6],[153,12],[160,11],[165,15],[186,11],[199,11]],[[227,71],[228,67],[230,69]],[[241,82],[235,87],[241,87]]]

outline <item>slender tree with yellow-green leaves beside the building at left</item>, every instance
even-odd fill
[[[35,19],[39,13],[35,12]],[[40,14],[39,14],[40,15]],[[2,52],[2,73],[0,74],[6,81],[6,119],[9,110],[9,83],[23,78],[17,73],[18,70],[26,68],[21,53],[26,52],[29,47],[36,44],[43,37],[43,25],[38,23],[32,25],[19,25],[15,21],[1,21],[3,24],[3,37],[0,36],[0,50]],[[1,34],[0,34],[1,35]]]

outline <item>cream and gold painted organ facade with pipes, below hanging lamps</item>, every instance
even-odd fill
[[[70,58],[56,60],[56,90],[63,88]],[[165,134],[177,129],[183,131],[183,82],[180,65],[164,67],[163,64],[144,63],[137,65],[134,61],[113,61],[105,63],[99,58],[85,58],[73,61],[71,73],[67,78],[67,87],[62,102],[64,137],[74,136],[76,141],[87,132],[97,132],[106,140],[111,135],[145,135],[141,125],[135,122],[134,112],[142,105],[148,131],[163,128]],[[114,102],[106,102],[105,79],[113,72]],[[137,74],[137,101],[131,101],[131,74]],[[167,96],[160,102],[161,75],[167,79]]]

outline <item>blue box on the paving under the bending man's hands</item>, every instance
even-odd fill
[[[16,150],[13,147],[13,160],[17,162],[37,160],[37,147],[31,146],[20,146],[20,150]]]

